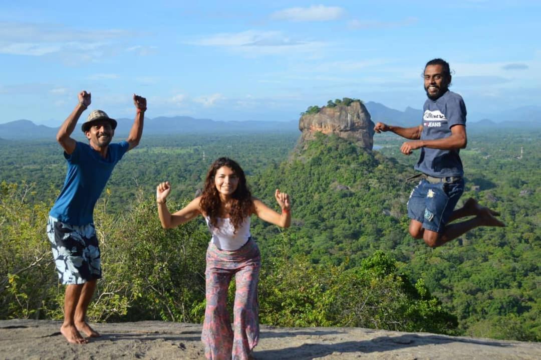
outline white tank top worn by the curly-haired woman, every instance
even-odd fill
[[[212,233],[210,242],[216,245],[220,250],[238,250],[245,245],[252,236],[250,234],[250,217],[242,222],[241,226],[237,229],[235,234],[235,227],[233,226],[229,218],[217,218],[217,225],[219,228],[210,226],[210,219],[205,217],[207,221],[208,230]]]

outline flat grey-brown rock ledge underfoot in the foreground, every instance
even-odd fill
[[[69,344],[61,322],[0,320],[0,359],[204,359],[201,325],[96,324],[102,337]],[[541,343],[361,328],[261,326],[255,359],[539,359]]]

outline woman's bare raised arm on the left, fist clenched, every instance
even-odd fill
[[[201,197],[195,198],[181,210],[171,214],[166,205],[167,197],[170,192],[171,184],[169,184],[169,181],[161,182],[156,187],[158,215],[164,229],[170,229],[179,226],[180,224],[184,224],[184,222],[195,219],[197,215],[201,214],[201,208],[199,207]]]

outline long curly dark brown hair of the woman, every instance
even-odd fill
[[[246,175],[239,164],[234,160],[229,158],[219,158],[210,165],[207,178],[204,181],[203,194],[201,195],[199,206],[209,218],[210,226],[219,228],[217,219],[220,215],[222,201],[220,199],[220,193],[214,184],[214,176],[216,175],[216,171],[222,166],[232,169],[233,173],[239,178],[239,184],[237,185],[235,192],[231,195],[231,208],[229,210],[230,221],[233,224],[236,233],[237,228],[242,225],[242,222],[252,214],[253,200],[252,193],[250,193],[248,186],[246,185]]]

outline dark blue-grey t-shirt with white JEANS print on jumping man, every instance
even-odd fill
[[[466,126],[466,105],[462,97],[452,91],[441,95],[438,100],[428,99],[423,107],[423,132],[421,140],[436,140],[451,136],[455,125]],[[421,148],[415,170],[436,178],[463,176],[459,149],[441,150]]]

